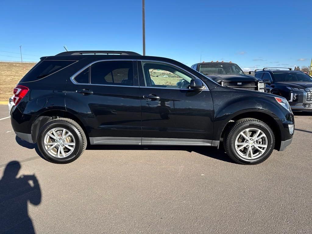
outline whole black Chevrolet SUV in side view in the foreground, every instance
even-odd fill
[[[284,98],[222,87],[177,61],[129,51],[42,57],[11,98],[16,135],[55,163],[87,144],[219,146],[237,163],[261,163],[292,141]],[[207,149],[209,150],[209,149]]]

